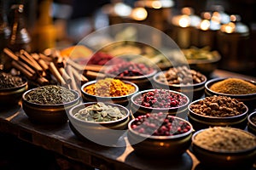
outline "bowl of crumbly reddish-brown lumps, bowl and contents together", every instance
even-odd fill
[[[195,130],[207,127],[247,126],[247,105],[227,96],[211,96],[191,102],[188,106],[189,122]]]

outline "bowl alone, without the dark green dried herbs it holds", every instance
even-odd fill
[[[32,122],[36,122],[39,124],[61,124],[67,122],[67,111],[71,109],[74,105],[78,105],[80,102],[79,93],[75,90],[71,90],[73,94],[76,95],[76,98],[65,104],[57,104],[57,105],[44,105],[37,104],[27,101],[26,94],[30,93],[32,90],[36,88],[32,88],[31,90],[26,91],[22,95],[22,108],[26,113],[26,116]]]

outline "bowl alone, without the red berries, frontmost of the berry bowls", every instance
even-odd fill
[[[190,129],[186,133],[174,134],[172,136],[154,136],[139,133],[132,129],[132,124],[137,119],[131,120],[128,124],[127,138],[135,153],[139,156],[162,158],[166,156],[179,157],[189,149],[193,132],[192,125],[182,118],[173,116],[174,120],[188,123]]]

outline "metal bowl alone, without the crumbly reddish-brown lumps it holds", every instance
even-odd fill
[[[245,127],[247,127],[247,112],[248,112],[247,105],[244,105],[246,107],[246,111],[244,111],[242,114],[237,116],[225,116],[225,117],[204,116],[204,115],[195,113],[195,111],[192,111],[190,109],[191,105],[195,105],[201,100],[203,99],[195,100],[191,102],[188,106],[188,109],[189,109],[188,119],[196,131],[207,128],[207,127],[237,127],[241,129],[244,129]]]

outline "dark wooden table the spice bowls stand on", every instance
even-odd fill
[[[243,77],[228,71],[215,71],[214,77]],[[180,158],[148,159],[137,156],[131,146],[107,147],[90,140],[81,140],[73,133],[68,122],[62,125],[38,125],[30,122],[20,105],[0,108],[0,132],[11,133],[18,139],[66,156],[73,161],[100,169],[181,169],[203,170],[190,150]],[[122,137],[128,142],[125,135]],[[127,144],[130,145],[130,144]],[[252,168],[255,170],[256,168]]]

